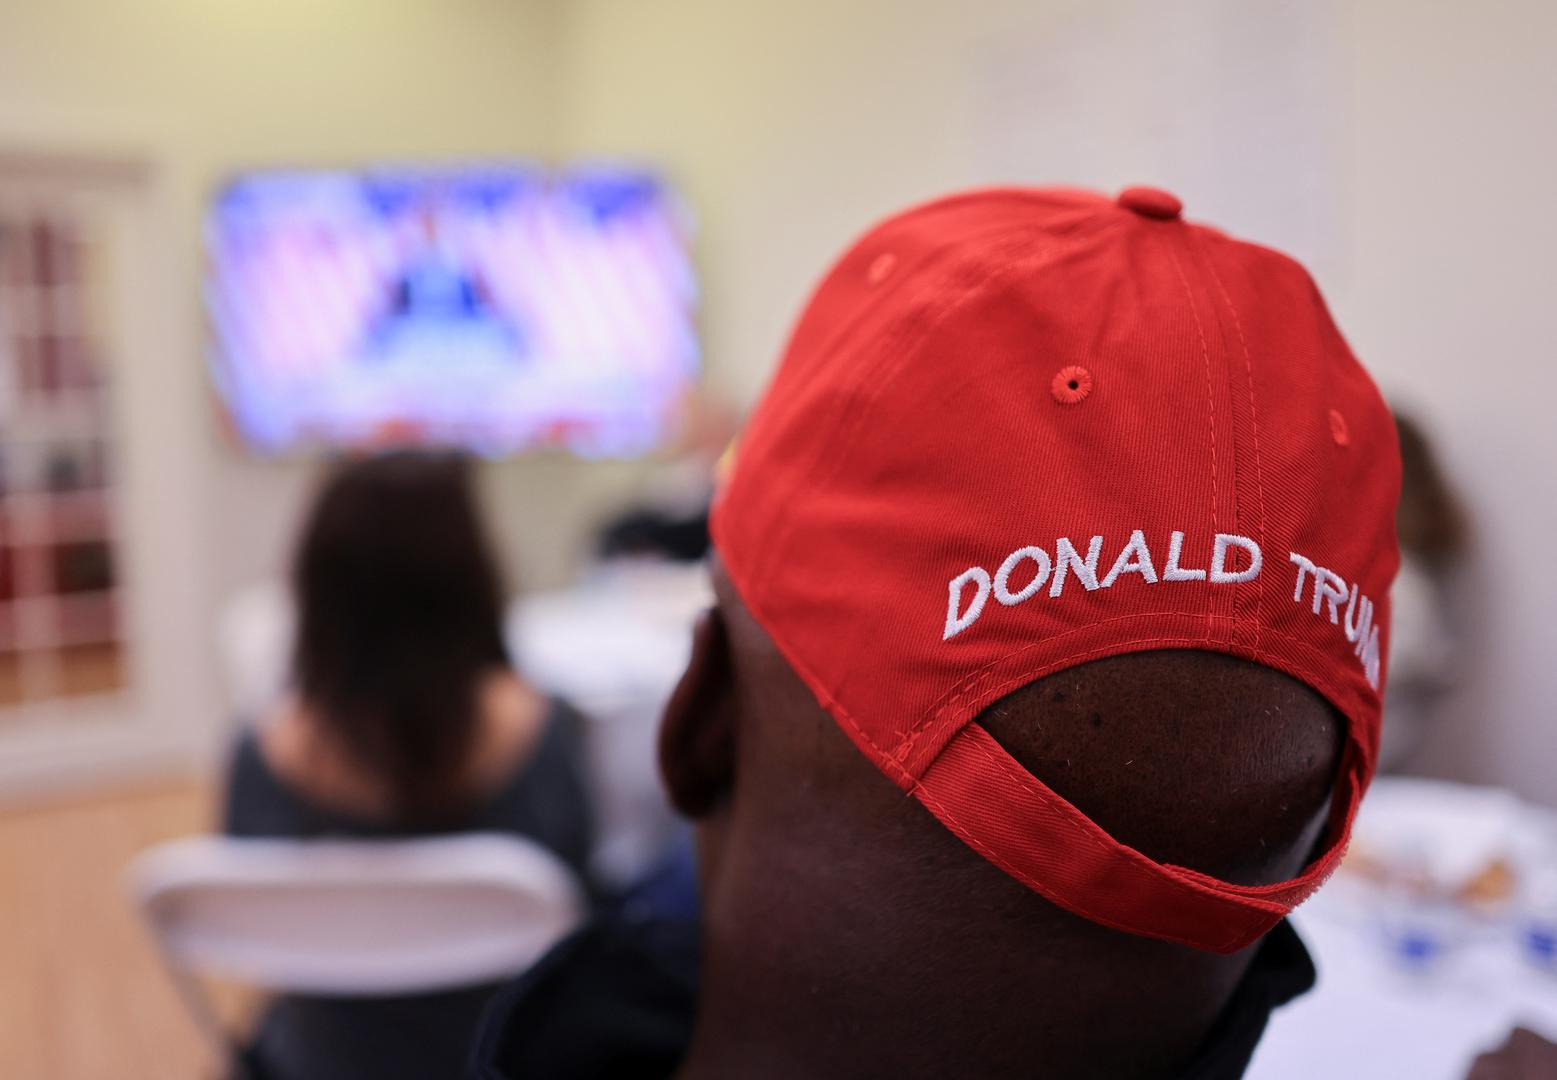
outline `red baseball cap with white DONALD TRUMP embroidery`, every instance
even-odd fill
[[[1165,191],[998,188],[833,266],[713,537],[817,702],[968,847],[1088,920],[1232,952],[1336,867],[1373,775],[1398,490],[1390,412],[1302,266]],[[1158,864],[972,722],[1148,649],[1242,657],[1345,714],[1302,876]]]

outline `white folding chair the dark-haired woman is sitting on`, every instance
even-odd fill
[[[188,837],[140,854],[129,884],[190,1015],[224,1057],[234,1043],[199,974],[277,993],[453,990],[525,971],[584,915],[573,871],[504,834]]]

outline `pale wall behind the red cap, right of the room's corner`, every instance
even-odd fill
[[[575,0],[565,33],[562,145],[684,184],[741,398],[850,237],[948,187],[1160,182],[1303,249],[1476,517],[1481,613],[1428,761],[1557,803],[1557,6]]]

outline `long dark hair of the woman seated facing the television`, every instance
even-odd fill
[[[481,677],[508,663],[469,462],[406,451],[339,467],[308,515],[293,588],[304,703],[383,777],[402,823],[458,812]]]

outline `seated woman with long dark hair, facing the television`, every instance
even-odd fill
[[[581,721],[509,664],[501,574],[464,458],[339,467],[302,531],[293,591],[294,689],[237,745],[229,834],[514,833],[587,881]],[[283,998],[254,1068],[279,1080],[458,1075],[487,993]]]

